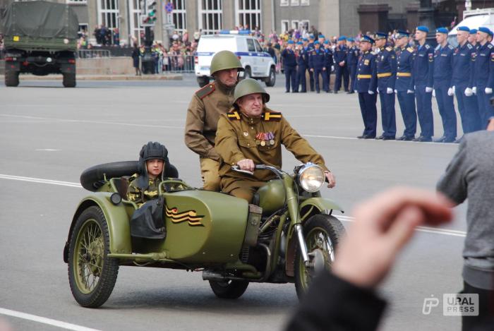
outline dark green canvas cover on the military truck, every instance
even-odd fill
[[[30,1],[8,6],[0,26],[6,47],[75,49],[79,23],[67,4]]]

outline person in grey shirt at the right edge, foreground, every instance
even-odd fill
[[[478,316],[462,316],[462,330],[473,330],[494,315],[494,132],[464,136],[437,185],[454,203],[469,199],[463,249],[464,289],[476,293]]]

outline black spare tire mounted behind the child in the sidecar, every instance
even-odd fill
[[[168,164],[166,167],[166,177],[179,178],[179,171],[173,164]],[[101,187],[104,179],[117,178],[121,176],[131,176],[140,172],[137,161],[121,161],[97,164],[93,167],[85,169],[80,174],[80,185],[88,191],[95,192]]]

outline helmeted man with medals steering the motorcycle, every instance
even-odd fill
[[[335,177],[325,166],[324,159],[297,133],[282,113],[266,107],[270,95],[257,80],[242,80],[235,88],[234,108],[218,122],[215,149],[221,156],[219,176],[224,193],[244,198],[251,203],[255,191],[266,181],[274,179],[271,171],[254,171],[255,164],[267,164],[281,169],[282,147],[301,162],[313,162],[325,171],[328,187],[336,184]],[[252,175],[231,169],[254,171]]]

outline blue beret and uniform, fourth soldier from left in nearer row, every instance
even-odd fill
[[[417,30],[429,32],[424,26],[417,27]],[[419,44],[414,53],[414,71],[411,74],[415,85],[418,123],[422,131],[420,137],[416,138],[417,141],[432,141],[434,136],[432,90],[426,92],[426,88],[433,87],[433,73],[434,49],[428,44]]]

